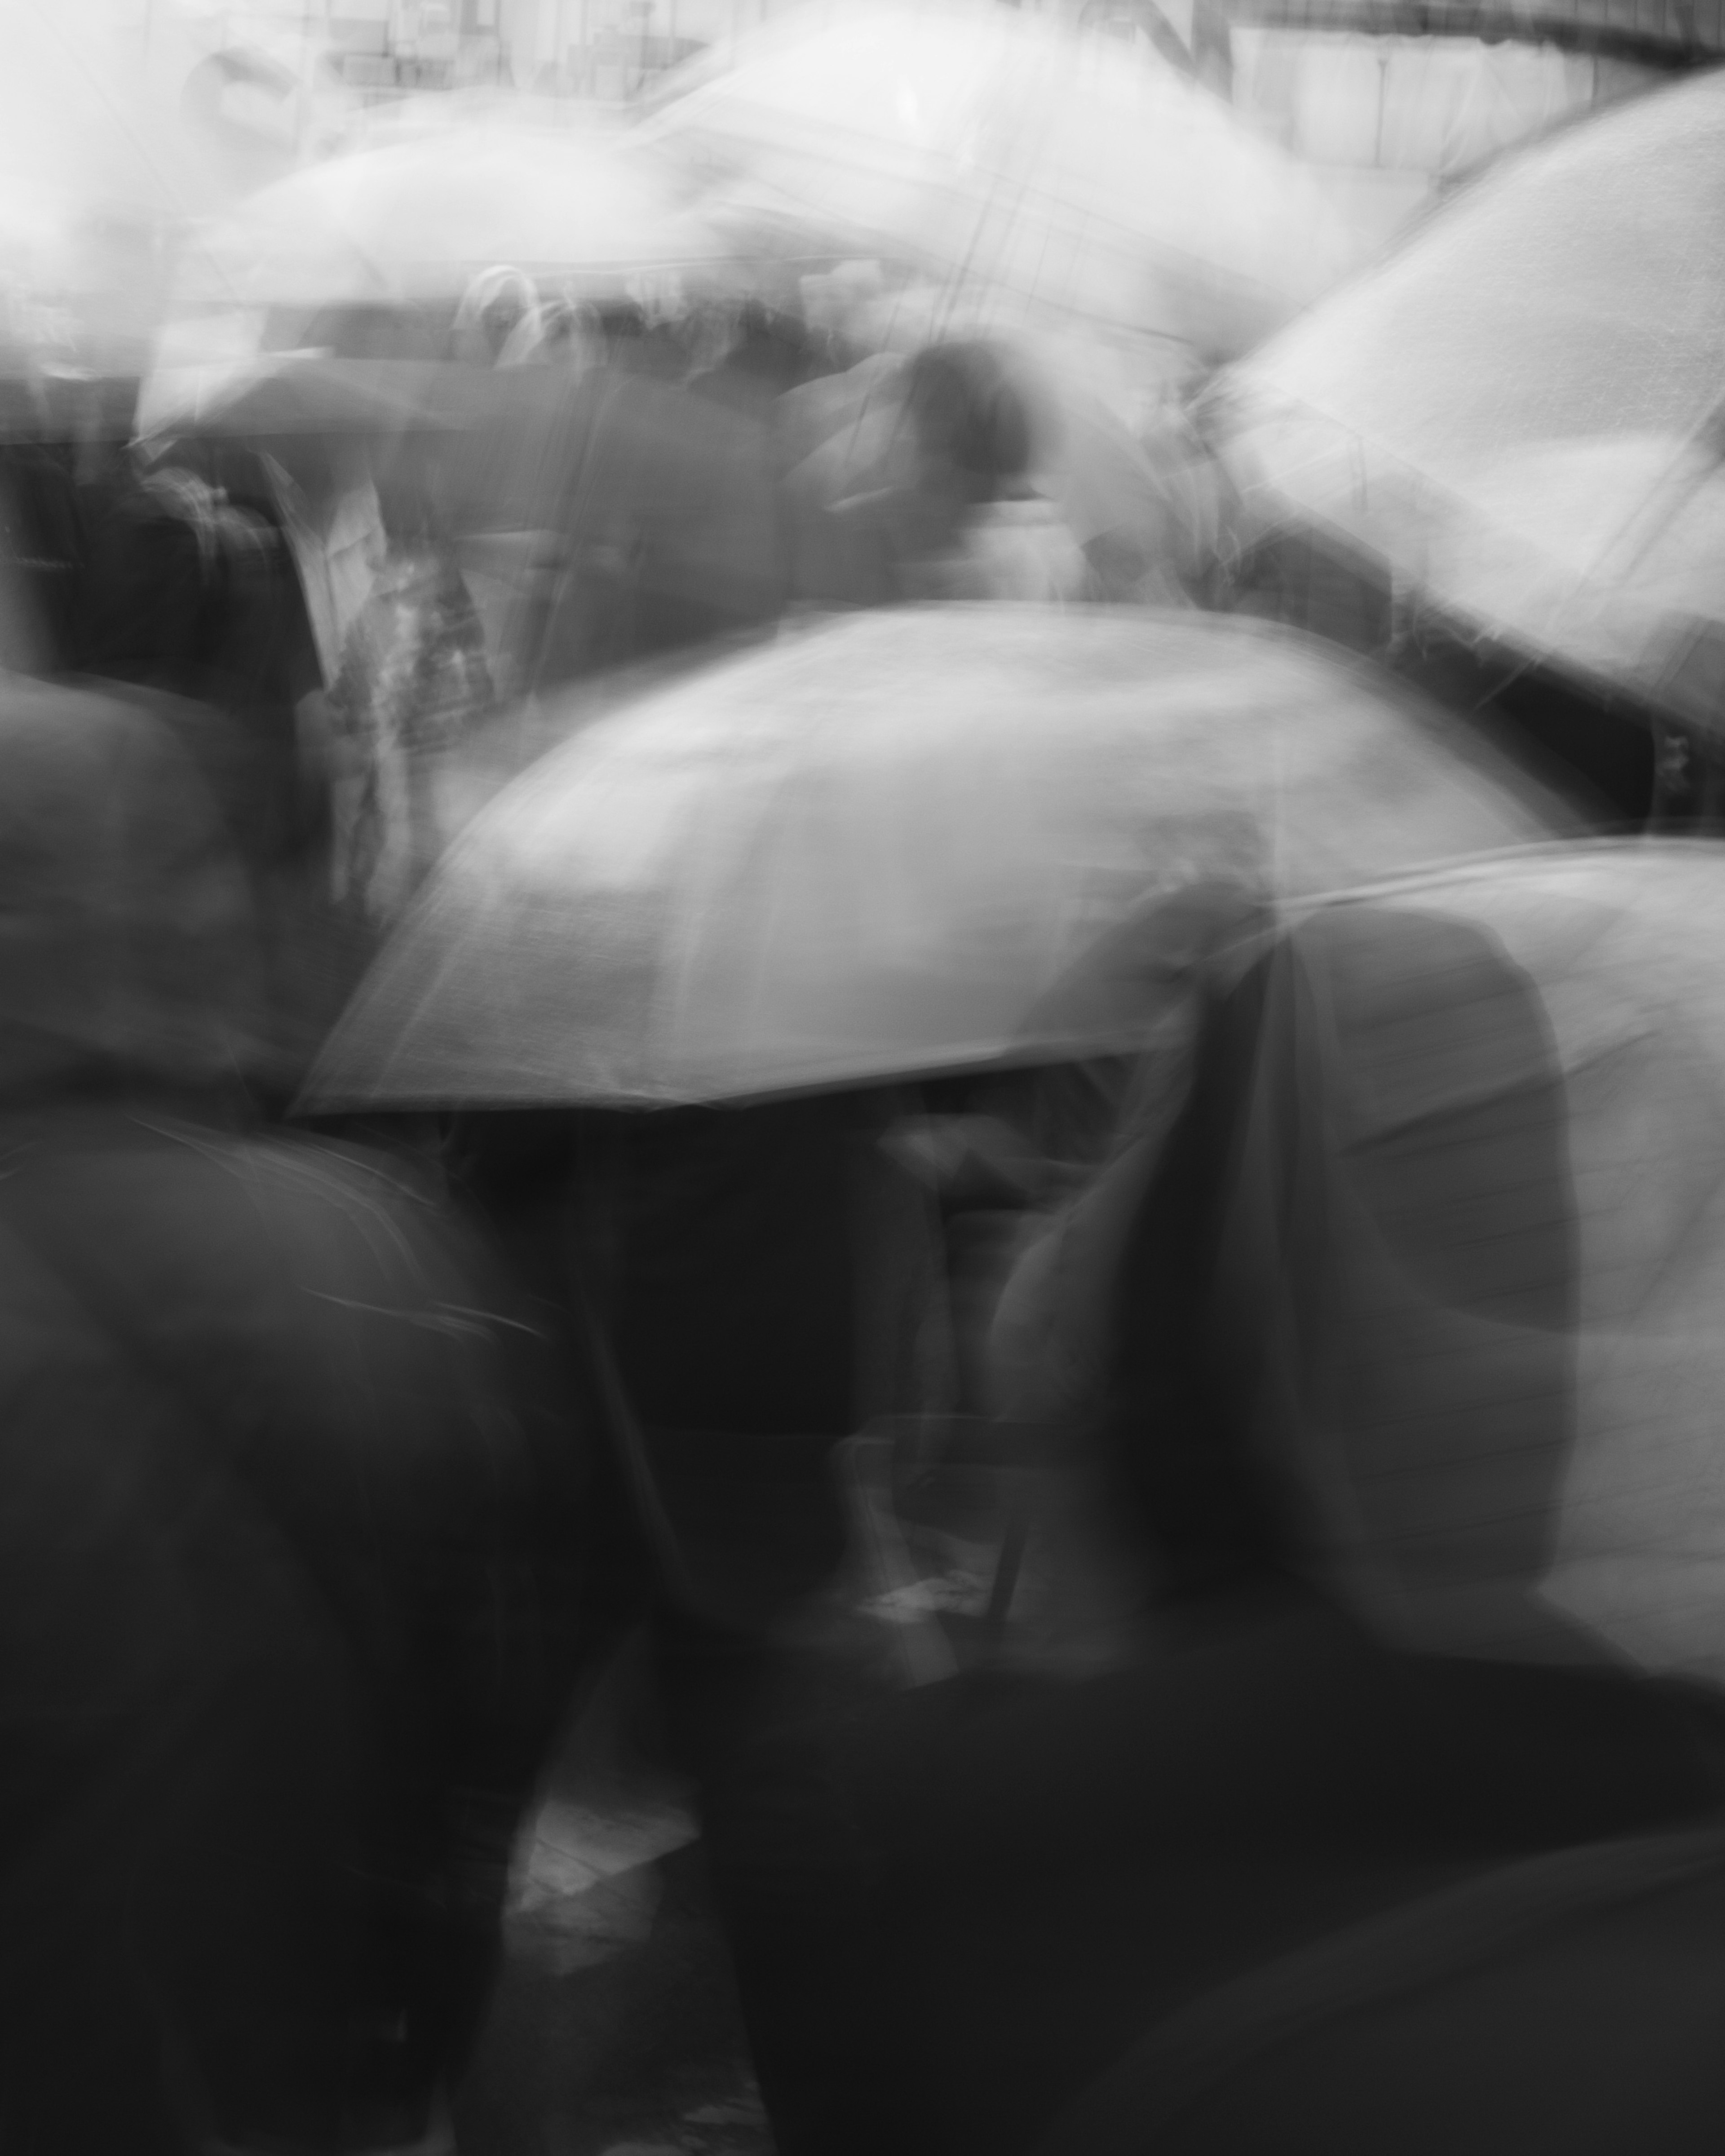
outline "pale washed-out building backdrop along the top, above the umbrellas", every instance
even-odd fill
[[[162,207],[194,211],[306,160],[429,119],[438,99],[546,97],[578,121],[621,110],[765,19],[834,0],[65,0],[4,9],[9,157],[19,116],[69,99],[60,162],[123,183],[114,132]],[[1149,47],[1311,160],[1386,224],[1494,151],[1716,58],[1712,0],[1046,0]]]

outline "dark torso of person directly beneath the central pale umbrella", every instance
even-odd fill
[[[720,1468],[763,1445],[813,1488],[815,1580],[832,1559],[826,1451],[880,1414],[944,1401],[951,1380],[936,1220],[880,1143],[901,1106],[897,1089],[865,1089],[651,1115],[474,1112],[451,1153],[541,1304],[604,1339],[673,1479],[703,1445]],[[778,1561],[806,1585],[802,1529]],[[707,1535],[699,1520],[692,1533]],[[761,1593],[783,1600],[770,1583]]]

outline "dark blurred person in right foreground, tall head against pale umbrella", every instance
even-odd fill
[[[1430,1115],[1346,1149],[1343,1100],[1395,1074],[1430,1080]],[[1533,1591],[1576,1382],[1563,1115],[1529,983],[1475,931],[1358,908],[1214,981],[1184,1069],[1070,1199],[1093,1231],[1041,1283],[1076,1326],[1063,1397],[1026,1395],[1022,1348],[1000,1373],[1005,1412],[1065,1414],[1134,1524],[1134,1651],[897,1699],[783,1656],[712,1777],[787,2156],[1035,2150],[1147,2029],[1281,1955],[1542,1852],[1716,1822],[1719,1703]],[[1324,1457],[1302,1412],[1335,1425]],[[1652,1999],[1688,1981],[1680,1927],[1634,1936]],[[1598,1990],[1537,2055],[1637,2089],[1647,2145],[1699,2147],[1701,2050],[1656,2087],[1619,2020]],[[1499,2005],[1464,2053],[1447,2027],[1445,2072],[1537,2115],[1533,2022]],[[1158,2089],[1147,2065],[1108,2145],[1145,2145]],[[1524,2145],[1492,2109],[1481,2145]],[[1229,2145],[1285,2143],[1285,2115],[1251,2117]],[[1604,2152],[1615,2111],[1593,2117]]]

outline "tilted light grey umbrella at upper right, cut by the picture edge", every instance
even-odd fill
[[[1236,371],[1248,509],[1328,524],[1468,636],[1665,699],[1725,617],[1723,213],[1719,75],[1512,157]]]

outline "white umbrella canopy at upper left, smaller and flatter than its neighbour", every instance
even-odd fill
[[[459,293],[481,270],[677,270],[718,254],[673,190],[615,140],[496,121],[308,166],[188,254],[179,302],[330,306]]]

